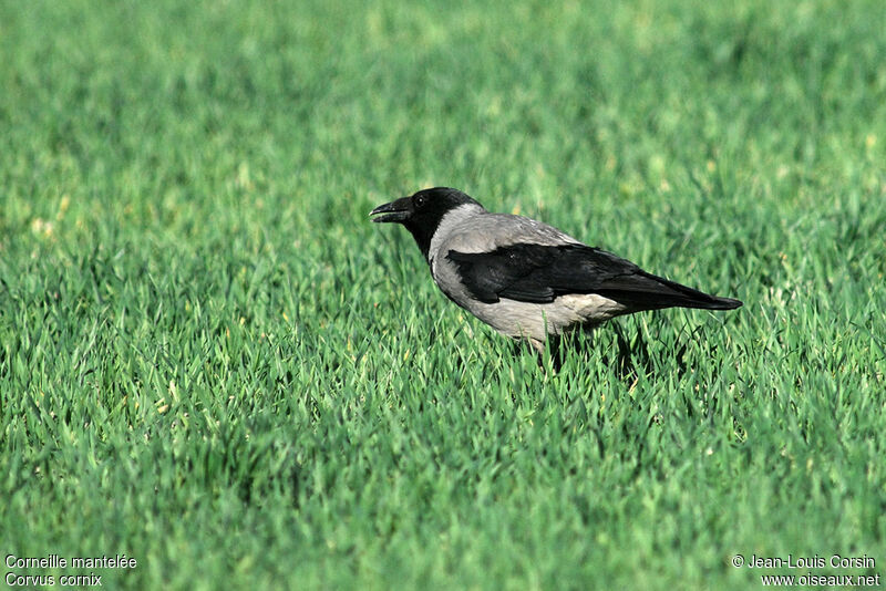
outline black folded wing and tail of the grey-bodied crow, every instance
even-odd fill
[[[647,273],[632,262],[585,245],[516,243],[491,252],[450,250],[462,282],[477,300],[499,298],[553,302],[567,293],[598,293],[635,310],[707,308],[730,310],[741,302],[717,298]]]

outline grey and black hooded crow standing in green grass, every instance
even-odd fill
[[[380,205],[370,218],[404,226],[450,300],[539,353],[548,338],[622,314],[742,305],[643,271],[547,224],[490,212],[450,187]]]

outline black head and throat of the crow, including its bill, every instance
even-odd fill
[[[422,255],[426,258],[427,249],[431,248],[431,239],[434,237],[443,216],[465,204],[480,206],[478,203],[459,189],[434,187],[420,190],[410,197],[403,197],[390,204],[380,205],[370,212],[370,216],[384,214],[373,218],[372,221],[395,221],[405,226],[412,232]]]

